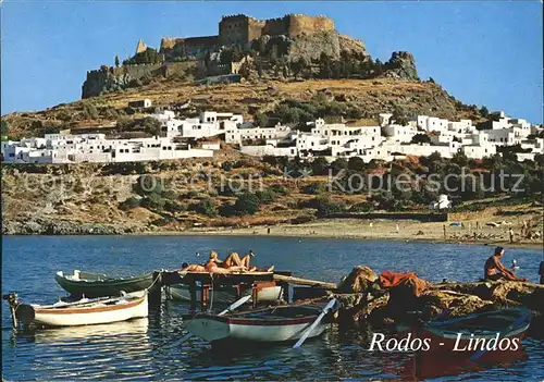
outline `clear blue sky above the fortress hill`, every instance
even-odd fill
[[[24,1],[1,12],[1,114],[78,100],[86,72],[141,38],[218,34],[222,15],[326,15],[381,61],[413,53],[457,99],[543,123],[542,3],[535,1]]]

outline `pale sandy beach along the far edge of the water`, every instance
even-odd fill
[[[325,219],[304,224],[279,224],[243,229],[195,227],[180,232],[151,232],[154,235],[234,235],[234,236],[285,236],[285,237],[332,237],[351,239],[387,239],[403,242],[437,242],[477,245],[502,245],[504,247],[526,247],[542,249],[542,238],[520,241],[520,229],[515,222],[500,226],[483,225],[477,229],[475,222],[453,226],[450,222],[423,223],[413,220],[361,220]],[[444,226],[445,235],[444,235]],[[509,241],[508,230],[515,231],[514,243]],[[474,232],[477,239],[474,239]],[[541,236],[542,237],[542,236]]]

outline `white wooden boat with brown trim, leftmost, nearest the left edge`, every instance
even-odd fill
[[[83,298],[75,303],[15,306],[15,318],[25,325],[76,326],[148,317],[147,293],[143,297]]]

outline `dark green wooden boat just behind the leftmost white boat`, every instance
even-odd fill
[[[153,273],[145,273],[137,276],[116,278],[100,273],[82,272],[75,270],[73,274],[57,272],[54,280],[76,297],[107,297],[119,296],[121,292],[143,296],[141,291],[147,289],[153,283]],[[138,292],[140,292],[138,294]]]

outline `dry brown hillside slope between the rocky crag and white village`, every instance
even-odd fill
[[[393,72],[392,72],[393,73]],[[379,79],[256,79],[242,84],[198,86],[183,77],[153,79],[125,90],[99,97],[63,103],[38,112],[16,112],[4,116],[12,138],[41,135],[60,128],[77,131],[115,132],[120,123],[144,116],[144,110],[133,110],[127,103],[149,98],[153,108],[185,106],[183,113],[202,110],[233,111],[252,119],[258,113],[274,114],[285,100],[307,102],[329,95],[330,102],[357,111],[367,124],[378,123],[378,114],[400,111],[406,115],[431,114],[447,119],[481,116],[477,107],[466,106],[433,82],[413,82],[399,78]],[[326,101],[325,101],[326,102]],[[148,110],[152,111],[152,110]],[[353,114],[344,112],[345,119]]]

